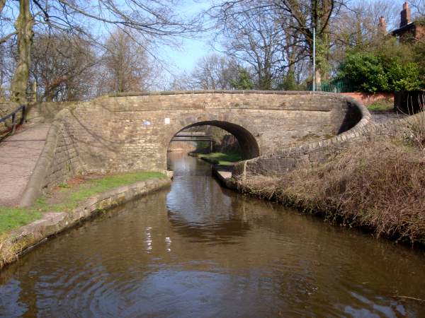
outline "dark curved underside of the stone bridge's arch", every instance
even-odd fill
[[[259,143],[256,141],[256,138],[253,133],[251,133],[248,129],[245,129],[239,124],[234,124],[232,122],[225,122],[220,120],[204,120],[200,122],[194,122],[192,124],[188,124],[186,126],[183,126],[179,131],[176,131],[173,136],[169,139],[173,139],[176,134],[179,134],[179,132],[184,131],[188,128],[194,127],[194,126],[216,126],[218,128],[224,129],[225,131],[229,132],[234,136],[234,138],[237,139],[239,146],[242,150],[242,158],[244,160],[256,158],[260,155],[260,147]]]

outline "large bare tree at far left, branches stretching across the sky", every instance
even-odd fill
[[[5,41],[17,35],[18,64],[11,83],[13,100],[25,102],[30,68],[30,51],[37,30],[65,30],[84,33],[91,25],[113,25],[130,28],[150,41],[170,42],[173,37],[190,35],[199,30],[198,21],[176,14],[178,1],[147,0],[0,0],[0,13],[8,17],[11,33]],[[7,13],[4,13],[8,11]],[[16,11],[18,18],[13,19]],[[7,19],[6,19],[7,20]],[[4,19],[4,21],[6,21]],[[14,23],[15,29],[11,25]]]

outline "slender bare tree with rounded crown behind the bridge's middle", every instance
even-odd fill
[[[225,54],[254,70],[257,88],[270,90],[284,62],[284,33],[276,13],[255,1],[241,1],[238,5],[226,2],[211,12],[217,25],[221,25]]]

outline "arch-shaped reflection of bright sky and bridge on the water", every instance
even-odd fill
[[[249,230],[249,223],[238,212],[241,201],[212,179],[210,165],[188,160],[181,153],[171,153],[169,161],[175,173],[166,202],[176,232],[193,242],[229,244],[229,237]]]

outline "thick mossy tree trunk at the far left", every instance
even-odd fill
[[[11,83],[12,100],[26,104],[26,90],[30,77],[31,45],[33,44],[34,18],[30,12],[30,0],[19,1],[19,16],[15,28],[18,33],[18,64]]]

